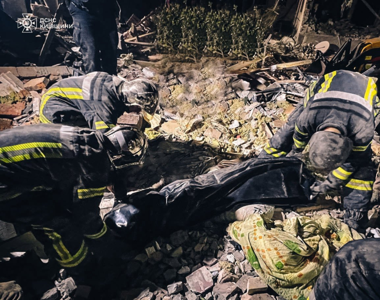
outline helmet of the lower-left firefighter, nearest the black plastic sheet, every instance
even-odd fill
[[[131,126],[116,126],[104,135],[113,145],[108,150],[116,168],[143,163],[148,140],[141,130]]]

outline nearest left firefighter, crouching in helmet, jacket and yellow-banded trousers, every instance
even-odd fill
[[[103,193],[118,168],[141,162],[146,147],[145,135],[127,126],[106,135],[61,124],[4,130],[0,219],[32,229],[47,254],[85,280],[104,254],[99,243],[113,240],[99,215]]]

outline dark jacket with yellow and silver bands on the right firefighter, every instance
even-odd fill
[[[270,139],[260,156],[279,157],[290,150],[302,151],[313,133],[326,127],[335,127],[353,142],[347,160],[333,170],[323,182],[326,190],[353,189],[351,200],[363,205],[353,205],[354,210],[365,210],[372,192],[372,173],[363,173],[363,166],[371,161],[370,142],[373,138],[377,88],[371,77],[356,72],[338,70],[328,73],[312,83],[276,134]],[[361,168],[360,172],[357,172]],[[354,175],[353,175],[354,174]],[[352,190],[351,190],[352,191]],[[347,198],[349,202],[350,197]]]

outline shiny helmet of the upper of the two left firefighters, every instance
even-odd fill
[[[140,106],[144,119],[149,122],[158,106],[158,90],[153,81],[145,78],[127,81],[123,77],[114,76],[114,83],[124,103],[127,106]]]

